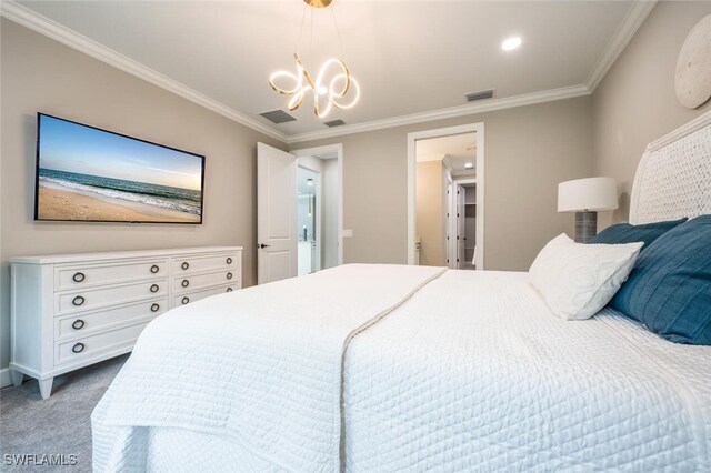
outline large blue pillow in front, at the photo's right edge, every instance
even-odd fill
[[[711,215],[652,242],[610,306],[672,342],[711,345]]]

